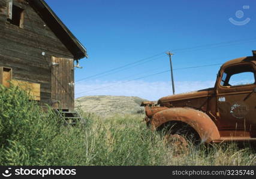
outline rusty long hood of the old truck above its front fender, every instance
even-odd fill
[[[192,91],[192,92],[185,92],[182,94],[176,95],[168,95],[167,97],[162,97],[158,100],[158,104],[160,106],[165,106],[165,103],[170,103],[174,101],[187,101],[197,98],[208,97],[208,95],[214,94],[214,88],[207,88],[204,90]]]

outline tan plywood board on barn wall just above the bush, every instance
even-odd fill
[[[25,90],[30,95],[30,100],[40,101],[40,84],[14,79],[11,82],[14,86],[19,86],[22,90]]]

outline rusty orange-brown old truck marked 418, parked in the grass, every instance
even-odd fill
[[[145,101],[146,124],[181,142],[256,141],[256,51],[222,64],[214,88]],[[192,134],[192,135],[191,135]]]

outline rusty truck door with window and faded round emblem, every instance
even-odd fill
[[[247,131],[256,126],[255,64],[231,64],[220,72],[216,107],[222,130]],[[240,135],[242,136],[242,135]]]

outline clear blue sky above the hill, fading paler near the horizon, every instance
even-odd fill
[[[46,2],[88,50],[89,58],[80,60],[83,69],[76,69],[76,97],[157,100],[171,94],[170,72],[152,75],[170,69],[164,52],[174,53],[173,68],[180,69],[221,64],[256,50],[256,1]],[[174,70],[177,93],[212,87],[219,66]],[[103,73],[108,70],[112,73]],[[94,76],[98,73],[103,74]]]

